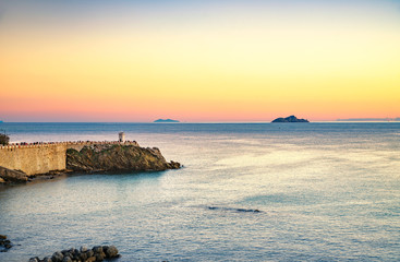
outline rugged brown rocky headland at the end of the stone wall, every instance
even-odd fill
[[[73,171],[146,171],[178,169],[177,162],[168,163],[157,147],[107,144],[86,145],[80,152],[66,151],[66,168]]]

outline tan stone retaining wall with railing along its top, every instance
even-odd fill
[[[41,144],[11,144],[0,146],[0,166],[22,170],[28,176],[65,169],[66,150],[81,151],[90,144],[120,144],[119,142],[59,142]],[[138,145],[135,141],[121,144]]]

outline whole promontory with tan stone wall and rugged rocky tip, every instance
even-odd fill
[[[178,169],[157,147],[135,141],[52,142],[0,146],[0,184],[69,172],[130,172]]]

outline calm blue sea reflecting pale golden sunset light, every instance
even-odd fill
[[[14,142],[126,139],[179,170],[0,188],[0,261],[399,261],[400,123],[1,123]],[[259,212],[253,212],[258,210]]]

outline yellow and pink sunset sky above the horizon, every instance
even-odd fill
[[[0,0],[0,120],[400,117],[400,1]]]

